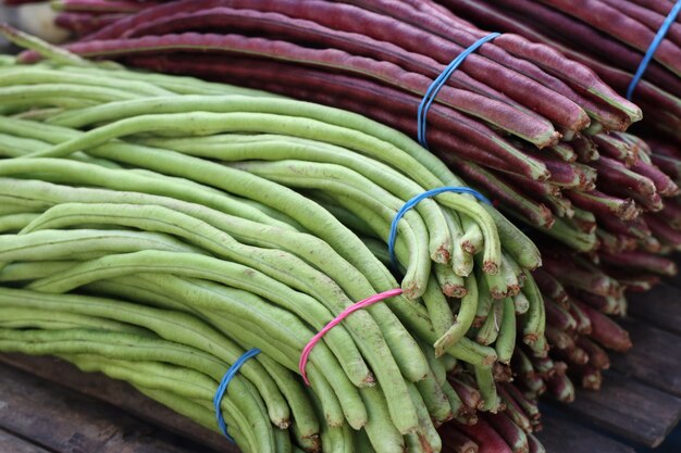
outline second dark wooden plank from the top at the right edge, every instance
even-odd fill
[[[631,335],[633,348],[610,354],[612,367],[651,387],[681,397],[681,336],[635,318],[618,319]]]

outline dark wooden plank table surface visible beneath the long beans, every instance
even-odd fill
[[[681,418],[681,278],[630,298],[634,348],[612,354],[600,391],[548,402],[548,453],[633,453],[659,445]],[[52,357],[0,354],[0,452],[236,453],[218,433]]]

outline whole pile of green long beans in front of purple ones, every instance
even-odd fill
[[[546,354],[538,252],[492,206],[423,200],[398,224],[391,269],[397,210],[463,186],[406,136],[264,92],[72,63],[0,64],[0,351],[103,372],[218,429],[218,383],[258,348],[222,401],[252,453],[441,451],[436,426],[474,421],[448,373],[476,387],[473,414],[497,412],[516,340]],[[314,334],[399,287],[324,337],[306,387]]]

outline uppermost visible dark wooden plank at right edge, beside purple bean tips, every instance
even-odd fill
[[[681,289],[661,284],[647,292],[628,294],[628,300],[631,315],[681,334]]]

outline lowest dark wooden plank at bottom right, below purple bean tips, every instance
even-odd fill
[[[548,453],[634,453],[634,449],[544,410],[537,433]]]

